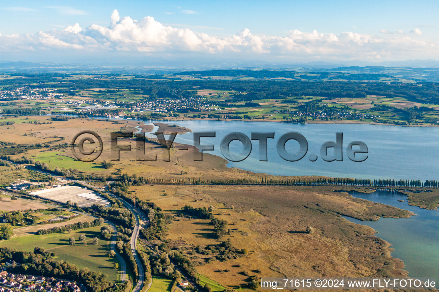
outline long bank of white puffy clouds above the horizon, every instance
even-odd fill
[[[65,54],[81,50],[96,56],[117,52],[131,52],[132,56],[137,56],[133,55],[134,52],[140,52],[179,57],[185,56],[185,53],[206,53],[228,57],[254,55],[255,58],[320,60],[413,59],[420,53],[425,57],[439,53],[434,43],[399,32],[389,34],[387,30],[380,30],[385,34],[381,36],[356,32],[321,33],[317,30],[291,30],[282,36],[272,36],[256,35],[245,28],[234,35],[219,37],[193,30],[210,27],[166,25],[151,16],[136,21],[127,16],[121,17],[117,10],[113,11],[110,19],[108,26],[94,24],[83,29],[76,23],[64,29],[36,34],[0,35],[0,52],[22,51],[26,54],[32,48]],[[413,33],[421,31],[417,33],[414,30]]]

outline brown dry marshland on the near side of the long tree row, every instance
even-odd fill
[[[341,218],[376,220],[408,217],[408,211],[311,186],[132,186],[137,197],[174,213],[185,204],[209,207],[225,219],[232,243],[249,250],[246,257],[197,267],[200,274],[230,288],[245,285],[242,271],[260,269],[263,277],[403,276],[400,260],[374,230]],[[195,201],[196,200],[196,201]],[[234,209],[230,209],[234,205]],[[173,221],[168,239],[188,246],[218,243],[206,220]],[[204,223],[204,224],[203,224]],[[314,232],[306,234],[307,226]],[[241,264],[241,267],[234,265]],[[229,273],[219,270],[230,269]]]

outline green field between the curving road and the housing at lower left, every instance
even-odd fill
[[[10,246],[16,250],[33,251],[36,246],[43,247],[56,254],[55,260],[65,260],[80,269],[88,267],[92,271],[100,271],[108,275],[108,280],[117,282],[119,271],[113,269],[113,263],[119,263],[115,258],[109,258],[110,241],[99,240],[92,244],[92,238],[100,238],[101,226],[75,230],[71,233],[52,233],[45,235],[29,235],[15,237],[0,243],[0,246]],[[79,235],[85,234],[87,245],[79,243]],[[76,244],[70,246],[69,238],[74,237]],[[119,263],[119,267],[120,267]]]

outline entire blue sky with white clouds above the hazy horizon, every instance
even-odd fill
[[[3,1],[0,61],[439,60],[439,1]]]

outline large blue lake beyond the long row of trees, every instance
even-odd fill
[[[252,152],[241,162],[229,162],[228,167],[273,175],[319,175],[332,177],[353,177],[367,179],[439,179],[438,153],[439,128],[397,127],[369,124],[298,124],[246,121],[187,120],[161,123],[176,123],[194,132],[215,131],[216,137],[201,138],[201,144],[214,144],[214,151],[205,151],[223,157],[219,145],[224,136],[232,131],[242,132],[250,137],[251,132],[274,132],[274,139],[268,139],[268,161],[259,161],[259,142],[252,141]],[[147,123],[147,124],[152,124]],[[157,127],[155,128],[155,130]],[[295,131],[308,141],[308,154],[299,161],[289,162],[276,151],[276,143],[282,134]],[[326,162],[320,157],[320,147],[326,141],[335,141],[335,133],[343,133],[343,161]],[[155,137],[152,136],[152,137]],[[176,142],[193,145],[193,132],[177,135]],[[353,162],[346,155],[346,146],[351,141],[363,141],[369,154],[364,162]],[[299,143],[288,141],[285,148],[297,151]],[[241,152],[239,141],[230,143],[231,151]],[[329,153],[330,151],[328,151]],[[317,154],[311,162],[309,154]]]

